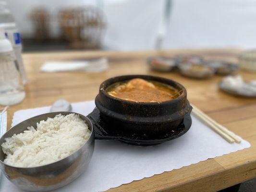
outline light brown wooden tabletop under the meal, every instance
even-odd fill
[[[207,80],[188,79],[177,72],[152,72],[146,58],[152,55],[171,56],[177,53],[200,54],[208,59],[236,60],[237,49],[169,50],[169,51],[83,51],[24,54],[28,75],[24,101],[8,109],[8,127],[13,112],[24,108],[51,105],[56,99],[70,102],[94,99],[99,84],[110,77],[124,74],[151,74],[183,84],[191,103],[251,143],[251,147],[228,155],[207,159],[197,164],[164,172],[151,178],[133,181],[110,189],[110,192],[214,192],[256,177],[256,99],[238,98],[218,89],[220,76]],[[43,73],[39,67],[45,60],[83,60],[107,57],[107,72]],[[256,73],[239,72],[246,80]]]

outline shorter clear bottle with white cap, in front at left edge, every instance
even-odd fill
[[[24,97],[24,87],[15,64],[12,43],[0,31],[0,105],[15,105]]]

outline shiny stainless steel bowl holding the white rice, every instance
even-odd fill
[[[27,130],[27,127],[37,127],[37,122],[54,118],[58,114],[68,115],[74,112],[53,112],[38,115],[36,117],[24,120],[13,126],[0,138],[0,145],[5,142],[5,138],[12,137]],[[78,113],[75,113],[78,114]],[[0,169],[5,176],[17,187],[34,192],[44,192],[60,188],[80,176],[88,166],[94,150],[94,130],[91,121],[78,114],[82,120],[85,120],[91,131],[89,139],[75,153],[54,163],[32,168],[19,168],[9,166],[3,163],[5,154],[0,147]]]

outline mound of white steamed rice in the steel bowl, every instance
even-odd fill
[[[77,151],[91,131],[74,113],[56,115],[28,130],[5,139],[1,145],[7,155],[4,163],[15,167],[36,167],[61,160]]]

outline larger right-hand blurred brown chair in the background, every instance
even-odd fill
[[[69,8],[59,13],[62,36],[71,48],[100,48],[104,14],[96,7]]]

